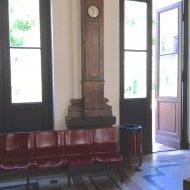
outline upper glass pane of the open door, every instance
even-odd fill
[[[178,9],[160,14],[160,54],[178,52]]]

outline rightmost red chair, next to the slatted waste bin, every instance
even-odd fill
[[[118,152],[117,143],[115,127],[94,129],[94,159],[100,163],[118,164],[121,181],[123,181],[123,157]]]

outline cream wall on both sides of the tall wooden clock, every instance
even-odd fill
[[[51,0],[54,129],[66,128],[72,98],[81,98],[80,0]],[[104,96],[119,124],[119,0],[104,0]]]

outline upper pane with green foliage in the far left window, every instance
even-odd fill
[[[9,0],[11,47],[40,47],[39,0]]]

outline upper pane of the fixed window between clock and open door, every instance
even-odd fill
[[[125,0],[125,49],[146,50],[147,4]]]

